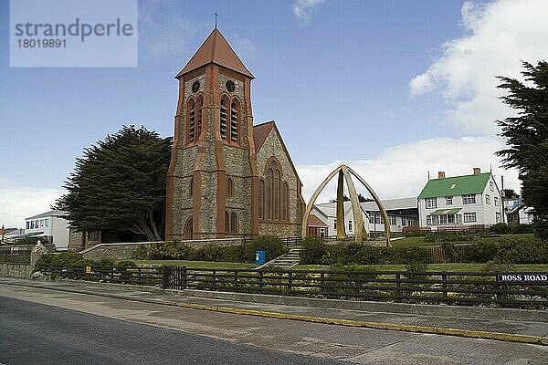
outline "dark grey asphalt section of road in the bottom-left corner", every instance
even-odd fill
[[[335,364],[0,297],[3,364]]]

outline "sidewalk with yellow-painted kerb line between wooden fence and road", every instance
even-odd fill
[[[333,299],[164,290],[73,280],[33,281],[0,277],[0,284],[241,315],[548,345],[548,311],[543,310],[355,303]],[[338,308],[327,308],[335,306]],[[362,309],[356,310],[358,307]]]

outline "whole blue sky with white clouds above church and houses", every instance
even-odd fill
[[[122,125],[173,135],[174,75],[214,12],[256,77],[255,123],[278,123],[305,199],[340,163],[381,198],[473,167],[519,190],[493,155],[494,120],[512,114],[495,76],[548,59],[548,1],[143,0],[137,68],[10,68],[0,1],[0,225],[46,211],[82,149]],[[321,200],[333,196],[334,183]]]

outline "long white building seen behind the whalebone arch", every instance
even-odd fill
[[[386,214],[390,220],[391,232],[402,232],[406,226],[418,226],[418,212],[416,198],[402,198],[384,200]],[[385,221],[380,210],[374,202],[360,203],[364,224],[369,224],[370,233],[385,232]],[[315,204],[311,210],[316,218],[327,225],[327,236],[337,234],[337,212],[336,203]],[[344,229],[347,235],[354,235],[355,225],[353,222],[352,204],[344,202]],[[309,227],[311,220],[309,219]],[[311,229],[309,228],[309,232]]]

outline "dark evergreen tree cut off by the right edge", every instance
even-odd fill
[[[504,166],[519,171],[522,201],[532,207],[539,234],[548,238],[548,62],[523,62],[523,68],[525,83],[499,77],[499,88],[509,92],[501,99],[518,113],[497,120],[508,145],[497,154]]]

